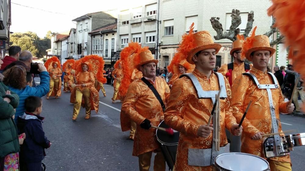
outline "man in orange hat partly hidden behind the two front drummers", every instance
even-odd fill
[[[235,81],[236,77],[241,75],[244,72],[248,72],[252,67],[252,64],[245,63],[245,56],[242,56],[242,43],[245,41],[242,35],[238,35],[238,40],[235,40],[232,43],[232,50],[230,51],[231,58],[234,58],[234,61],[228,64],[221,65],[221,68],[217,71],[222,75],[226,76],[230,87]],[[240,136],[233,136],[229,131],[226,131],[230,143],[231,152],[240,152]]]

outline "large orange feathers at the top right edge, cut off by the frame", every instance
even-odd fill
[[[305,78],[305,1],[304,0],[272,0],[267,10],[275,20],[274,27],[285,36],[285,45],[289,46],[288,58],[293,58],[294,69]],[[293,51],[298,53],[293,56]]]

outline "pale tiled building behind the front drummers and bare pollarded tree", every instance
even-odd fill
[[[211,17],[219,17],[220,23],[223,26],[224,32],[229,30],[231,26],[232,9],[240,10],[242,23],[239,26],[242,34],[246,28],[248,13],[254,11],[253,27],[257,26],[256,35],[264,34],[270,30],[271,17],[267,15],[267,9],[271,6],[271,1],[266,0],[231,0],[228,1],[198,1],[189,0],[187,3],[184,0],[164,0],[160,1],[160,66],[167,66],[172,60],[178,44],[181,43],[182,35],[187,33],[190,25],[194,22],[194,30],[209,31],[211,36],[217,35],[213,29],[210,19]],[[274,37],[275,39],[276,37]],[[214,39],[214,38],[213,38]],[[273,36],[270,37],[273,40]],[[231,50],[231,40],[222,39],[214,40],[215,43],[223,45],[221,51],[217,54],[217,65],[229,63],[232,61],[229,54]],[[274,47],[277,48],[277,47]],[[285,53],[285,51],[279,52]],[[286,55],[276,56],[281,60],[287,61]],[[274,61],[272,61],[274,60]],[[271,59],[271,64],[275,59]],[[285,63],[285,62],[284,62]]]

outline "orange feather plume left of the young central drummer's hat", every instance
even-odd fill
[[[177,53],[175,53],[174,58],[170,62],[170,65],[168,66],[168,71],[173,72],[174,66],[177,65],[181,60],[186,59],[190,51],[195,48],[193,45],[194,42],[194,23],[191,24],[190,30],[188,34],[184,34],[182,36],[182,41],[179,47],[177,48]]]

